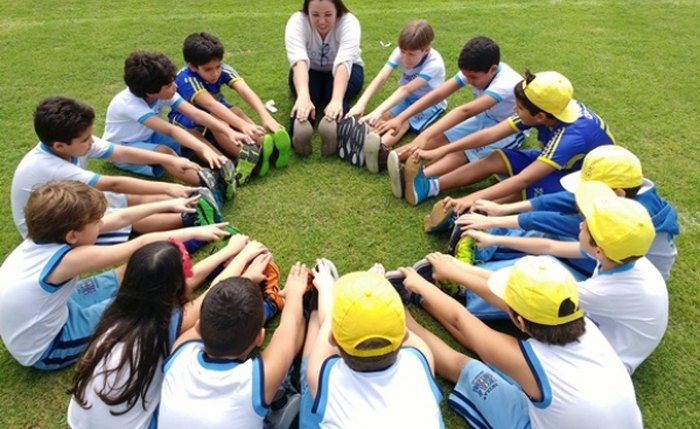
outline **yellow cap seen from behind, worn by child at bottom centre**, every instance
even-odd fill
[[[347,354],[382,356],[401,346],[406,336],[406,315],[399,294],[384,276],[367,271],[346,274],[335,283],[333,295],[331,332]],[[371,338],[389,344],[357,348]]]

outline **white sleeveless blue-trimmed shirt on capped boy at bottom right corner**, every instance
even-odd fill
[[[565,346],[535,339],[520,346],[542,391],[541,401],[528,401],[533,429],[642,428],[632,380],[590,320]]]

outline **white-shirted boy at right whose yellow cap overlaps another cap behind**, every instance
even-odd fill
[[[479,245],[499,244],[564,258],[595,258],[598,265],[593,276],[578,283],[581,307],[631,374],[659,345],[668,325],[666,282],[644,257],[654,240],[654,226],[641,204],[616,196],[602,182],[581,183],[575,196],[584,217],[578,242],[478,231],[466,234]]]

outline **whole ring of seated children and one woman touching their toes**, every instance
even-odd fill
[[[72,427],[442,427],[435,374],[454,385],[448,403],[472,427],[642,427],[630,375],[666,330],[674,209],[566,77],[523,77],[496,42],[475,37],[446,80],[433,38],[426,21],[408,23],[351,106],[363,86],[360,24],[342,1],[305,1],[285,32],[288,128],[208,33],[185,39],[177,72],[162,54],[129,55],[102,138],[85,104],[39,103],[40,143],[12,182],[25,240],[1,268],[0,334],[21,365],[77,362]],[[399,87],[366,113],[396,69]],[[467,86],[473,99],[441,116]],[[280,291],[270,250],[222,222],[219,208],[291,152],[311,153],[315,124],[323,155],[388,169],[391,191],[412,205],[500,180],[435,203],[424,225],[452,229],[447,253],[342,277],[327,259],[296,263]],[[394,149],[408,131],[417,137]],[[520,149],[530,131],[542,149]],[[93,158],[184,185],[96,174],[86,169]],[[223,244],[192,265],[189,253],[210,240]],[[527,339],[483,322],[498,318]]]

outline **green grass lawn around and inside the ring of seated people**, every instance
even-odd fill
[[[409,20],[434,26],[437,48],[456,72],[456,56],[470,37],[499,42],[504,61],[516,70],[557,70],[571,79],[576,97],[600,114],[618,143],[642,160],[645,175],[680,214],[679,258],[668,284],[671,315],[666,337],[634,374],[639,405],[649,428],[693,427],[700,421],[700,165],[693,126],[700,105],[700,39],[696,1],[492,1],[349,0],[362,22],[367,83]],[[9,189],[15,165],[36,144],[32,112],[49,95],[63,94],[95,107],[101,134],[111,97],[122,87],[124,58],[132,51],[160,50],[182,64],[180,47],[194,31],[217,34],[226,60],[263,100],[274,98],[286,121],[291,107],[283,31],[301,1],[253,3],[100,2],[51,0],[0,6],[0,255],[20,238],[10,221]],[[383,95],[393,90],[387,85]],[[461,91],[455,106],[469,99]],[[233,98],[233,97],[232,97]],[[375,104],[372,104],[375,105]],[[317,142],[318,143],[318,142]],[[372,176],[337,160],[292,158],[240,190],[228,218],[266,243],[286,273],[296,260],[333,259],[342,271],[374,261],[394,268],[410,264],[445,237],[427,236],[417,208],[391,196],[386,175]],[[95,165],[98,171],[116,170]],[[430,319],[423,318],[430,322]],[[437,330],[434,323],[431,327]],[[453,343],[454,344],[454,343]],[[63,427],[71,371],[40,373],[20,367],[0,346],[0,427]],[[445,389],[448,388],[443,384]],[[453,412],[446,426],[463,427]],[[695,422],[695,423],[693,423]]]

